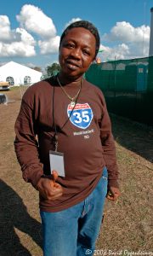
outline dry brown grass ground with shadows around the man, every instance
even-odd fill
[[[9,102],[0,105],[0,256],[42,256],[38,194],[22,179],[13,146],[23,91],[5,93]],[[122,197],[105,203],[94,254],[153,255],[153,132],[114,115],[111,120]]]

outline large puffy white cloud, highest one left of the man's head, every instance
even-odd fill
[[[20,22],[20,26],[29,32],[37,33],[42,38],[53,38],[56,35],[53,20],[34,5],[24,5],[20,15],[16,15],[16,18]]]

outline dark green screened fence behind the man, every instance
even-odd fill
[[[104,92],[111,113],[153,125],[153,57],[93,64],[86,79]]]

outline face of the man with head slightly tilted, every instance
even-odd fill
[[[59,47],[61,73],[79,78],[94,61],[96,40],[82,27],[72,28],[62,39]]]

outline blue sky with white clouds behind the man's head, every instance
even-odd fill
[[[153,0],[4,0],[0,3],[0,65],[44,69],[58,61],[59,37],[75,20],[99,29],[101,61],[149,55]]]

